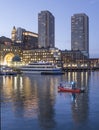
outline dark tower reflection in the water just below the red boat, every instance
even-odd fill
[[[72,102],[72,116],[76,123],[86,122],[89,114],[88,108],[88,97],[86,94],[75,94],[73,95],[74,100]]]

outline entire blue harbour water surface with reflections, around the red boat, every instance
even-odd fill
[[[58,93],[75,81],[81,94]],[[99,130],[99,71],[0,76],[1,130]]]

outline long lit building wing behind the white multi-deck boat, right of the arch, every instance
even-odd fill
[[[61,51],[57,48],[39,48],[33,50],[23,50],[23,62],[45,61],[50,63],[61,64]]]

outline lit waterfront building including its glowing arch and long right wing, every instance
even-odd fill
[[[0,62],[12,65],[14,57],[19,56],[22,64],[45,61],[61,66],[61,51],[58,48],[23,49],[19,44],[5,45],[0,43]]]

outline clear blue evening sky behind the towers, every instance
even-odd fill
[[[71,50],[71,16],[89,17],[89,54],[99,58],[99,0],[0,0],[0,37],[11,38],[13,26],[38,33],[38,13],[55,17],[55,47]]]

